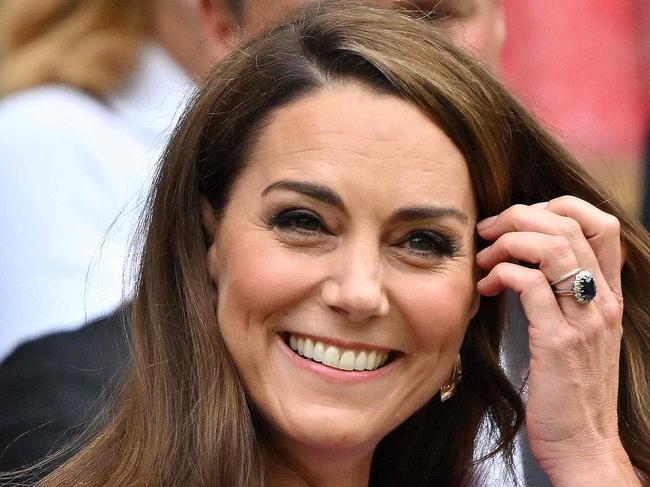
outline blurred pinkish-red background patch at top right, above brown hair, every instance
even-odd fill
[[[650,122],[650,1],[504,0],[502,78],[637,214]]]

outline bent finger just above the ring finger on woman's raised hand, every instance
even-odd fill
[[[487,240],[496,240],[509,232],[538,232],[564,237],[575,254],[578,266],[592,272],[599,285],[606,286],[600,263],[582,232],[580,224],[573,218],[558,215],[539,206],[514,205],[500,213],[487,224],[477,225],[479,235]],[[568,272],[571,269],[566,269]],[[562,274],[562,273],[561,273]]]

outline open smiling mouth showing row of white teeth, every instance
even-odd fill
[[[291,333],[283,333],[282,339],[299,357],[347,372],[380,369],[392,362],[397,355],[397,352],[392,351],[351,350]]]

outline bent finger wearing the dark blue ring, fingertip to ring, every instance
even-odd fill
[[[564,237],[545,233],[506,233],[476,256],[478,266],[486,271],[513,259],[537,264],[548,281],[555,281],[580,267],[573,248]]]

